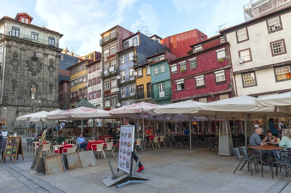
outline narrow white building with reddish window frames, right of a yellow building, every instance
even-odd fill
[[[87,65],[88,101],[97,106],[98,109],[103,109],[101,66],[101,59],[97,59]]]

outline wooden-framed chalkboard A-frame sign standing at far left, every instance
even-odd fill
[[[22,142],[21,137],[7,137],[5,149],[4,149],[4,155],[2,159],[2,163],[4,163],[5,157],[14,157],[14,163],[16,162],[17,155],[22,155],[23,158],[23,152],[22,152]]]

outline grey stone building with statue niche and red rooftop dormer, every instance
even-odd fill
[[[0,19],[0,123],[9,131],[26,128],[16,117],[59,108],[59,32],[31,24],[17,14]]]

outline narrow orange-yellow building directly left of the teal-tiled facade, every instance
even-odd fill
[[[150,67],[149,64],[152,61],[146,62],[143,65],[136,66],[134,69],[138,74],[143,74],[140,77],[136,77],[135,84],[136,84],[136,94],[135,94],[135,101],[136,103],[146,102],[146,103],[154,103],[151,100],[151,78],[150,78]],[[142,73],[140,72],[142,71]]]

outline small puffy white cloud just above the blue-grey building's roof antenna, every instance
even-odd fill
[[[139,18],[137,18],[135,23],[131,25],[131,30],[133,32],[140,30],[142,33],[145,33],[144,30],[146,29],[142,29],[142,26],[146,26],[151,34],[157,34],[159,32],[161,21],[158,18],[153,5],[143,3],[138,10],[138,14]]]

